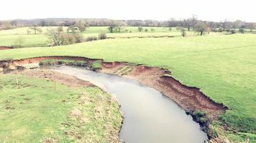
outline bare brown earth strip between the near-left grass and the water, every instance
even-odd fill
[[[50,79],[52,82],[58,82],[68,87],[91,87],[93,84],[83,81],[76,77],[68,76],[66,74],[60,74],[56,71],[42,70],[42,69],[30,69],[17,72],[17,74],[27,75],[29,77],[37,77],[41,79]]]

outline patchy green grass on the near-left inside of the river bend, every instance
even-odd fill
[[[44,79],[18,80],[4,74],[0,81],[1,142],[110,142],[111,132],[119,132],[119,106],[109,104],[109,94],[101,89],[58,83],[55,89],[54,82]],[[73,115],[76,110],[79,117]]]

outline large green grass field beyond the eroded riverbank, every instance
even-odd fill
[[[175,37],[172,39],[106,39],[68,46],[0,51],[0,59],[33,56],[86,56],[162,66],[183,84],[201,91],[229,110],[218,123],[227,136],[256,142],[256,34]],[[233,134],[232,131],[236,133]]]

